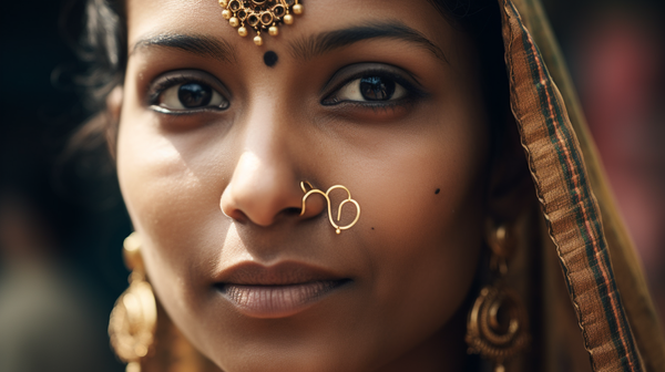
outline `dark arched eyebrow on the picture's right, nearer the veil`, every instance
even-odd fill
[[[418,44],[448,63],[441,48],[427,39],[421,32],[400,21],[374,22],[347,29],[326,31],[310,37],[304,37],[291,42],[291,55],[296,59],[308,60],[325,54],[335,49],[344,48],[359,41],[372,39],[393,39]]]

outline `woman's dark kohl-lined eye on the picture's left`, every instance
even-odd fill
[[[167,111],[191,111],[213,107],[225,110],[228,101],[212,86],[200,82],[185,82],[163,90],[155,102]]]

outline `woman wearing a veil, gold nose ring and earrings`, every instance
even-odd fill
[[[89,13],[137,231],[127,370],[665,368],[536,1]]]

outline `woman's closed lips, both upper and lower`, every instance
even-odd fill
[[[308,309],[349,282],[349,278],[297,262],[270,267],[247,262],[224,270],[215,287],[246,316],[286,318]]]

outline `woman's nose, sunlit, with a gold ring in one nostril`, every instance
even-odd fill
[[[268,227],[285,218],[307,219],[323,211],[324,204],[307,202],[300,216],[304,193],[300,189],[300,162],[289,151],[286,127],[279,121],[254,121],[246,127],[243,153],[222,194],[219,207],[234,220]]]

